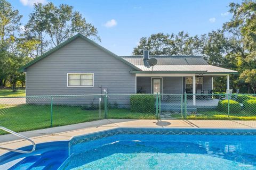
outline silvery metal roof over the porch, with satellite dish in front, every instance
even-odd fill
[[[131,73],[202,73],[202,74],[237,74],[237,71],[209,65],[202,56],[150,56],[157,59],[154,69],[142,56],[122,56],[124,60],[138,67],[141,71]],[[153,70],[152,70],[153,69]],[[152,72],[153,71],[153,72]]]

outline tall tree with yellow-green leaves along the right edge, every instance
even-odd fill
[[[223,25],[223,28],[234,37],[233,49],[237,60],[237,70],[242,75],[238,82],[245,82],[245,75],[256,69],[256,2],[243,1],[241,4],[230,3],[229,6],[229,12],[233,14],[233,17]],[[242,87],[245,86],[244,83],[240,84]],[[249,84],[252,86],[251,83],[247,83]],[[247,86],[248,92],[250,86]]]

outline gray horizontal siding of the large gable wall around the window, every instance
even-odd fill
[[[134,94],[131,66],[78,38],[27,68],[26,95]],[[67,73],[94,73],[94,87],[67,87]]]

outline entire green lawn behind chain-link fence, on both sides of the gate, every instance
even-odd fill
[[[183,119],[183,114],[172,114],[173,118]],[[101,119],[104,110],[101,111]],[[155,113],[131,112],[129,109],[109,108],[107,118],[120,119],[156,119]],[[256,112],[239,111],[230,113],[200,110],[196,114],[188,114],[189,120],[256,120]],[[83,106],[53,105],[52,126],[82,123],[99,120],[99,110],[91,110]],[[0,126],[16,132],[44,129],[51,127],[51,105],[0,105]],[[0,131],[0,135],[5,134]]]

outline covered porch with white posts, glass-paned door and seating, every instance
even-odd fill
[[[186,92],[188,106],[216,107],[219,100],[209,95],[213,93],[213,78],[217,76],[227,77],[227,89],[229,89],[229,74],[149,73],[135,74],[135,91],[142,94],[156,94],[157,92],[163,94],[163,106],[180,105],[180,98]]]

